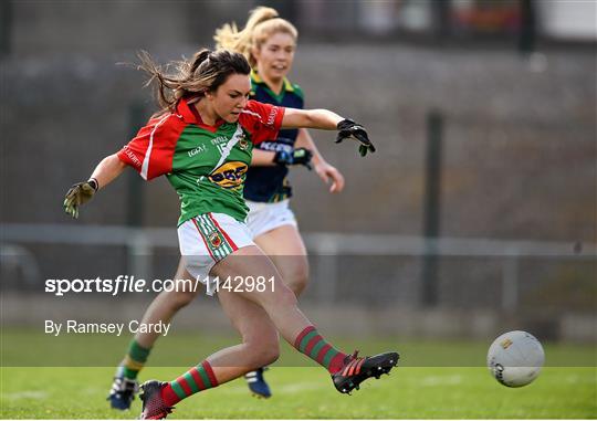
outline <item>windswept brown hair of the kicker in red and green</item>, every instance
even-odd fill
[[[206,92],[214,92],[226,83],[232,74],[251,73],[247,59],[228,50],[200,50],[190,60],[169,63],[165,69],[154,62],[149,53],[138,53],[140,64],[138,70],[145,71],[149,76],[145,86],[154,85],[156,99],[161,112],[175,110],[180,98],[201,97]],[[170,67],[174,73],[167,73]]]

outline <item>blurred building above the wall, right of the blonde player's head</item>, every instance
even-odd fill
[[[301,27],[327,34],[509,40],[536,25],[542,40],[597,41],[597,2],[586,0],[295,1]],[[533,30],[535,30],[533,29]]]

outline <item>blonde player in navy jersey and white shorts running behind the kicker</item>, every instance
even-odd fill
[[[242,53],[251,64],[251,98],[291,108],[303,108],[301,87],[286,78],[292,69],[298,32],[281,19],[274,9],[254,9],[242,31],[226,24],[217,31],[217,48]],[[311,159],[312,158],[312,159]],[[311,162],[310,162],[311,161]],[[244,199],[249,207],[247,224],[253,241],[270,256],[284,283],[298,296],[308,282],[306,249],[289,206],[292,196],[286,176],[291,165],[313,165],[315,172],[327,182],[331,192],[344,187],[342,173],[327,164],[318,152],[308,131],[282,129],[277,138],[255,146],[251,167],[244,182]],[[179,264],[175,278],[191,278]],[[175,314],[197,296],[198,291],[160,293],[147,308],[144,323],[168,323]],[[139,333],[127,348],[116,370],[108,400],[116,409],[128,409],[137,390],[137,376],[144,368],[159,334]],[[271,397],[263,369],[245,375],[251,392]]]

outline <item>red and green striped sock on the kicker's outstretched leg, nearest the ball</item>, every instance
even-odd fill
[[[332,375],[339,371],[346,358],[346,354],[327,343],[317,333],[315,326],[305,327],[294,340],[294,347],[320,366],[325,367]]]

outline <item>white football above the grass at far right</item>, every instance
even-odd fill
[[[537,378],[545,361],[541,343],[533,335],[514,330],[503,334],[491,344],[488,368],[504,386],[520,388]]]

